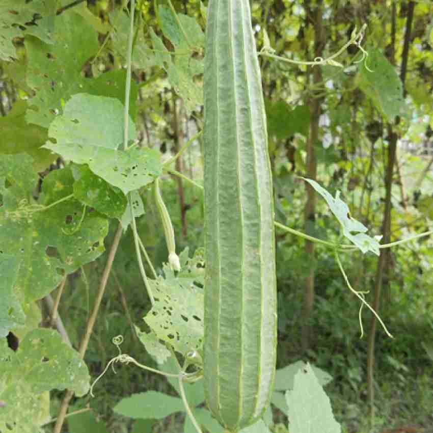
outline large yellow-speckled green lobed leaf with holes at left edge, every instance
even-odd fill
[[[0,250],[21,262],[15,286],[25,303],[41,299],[65,273],[100,256],[108,231],[107,220],[98,212],[88,209],[83,215],[84,206],[72,196],[69,168],[50,172],[43,181],[41,200],[26,202],[37,179],[32,164],[25,154],[0,160]]]

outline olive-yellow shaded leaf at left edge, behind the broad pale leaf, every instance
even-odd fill
[[[7,116],[0,118],[0,153],[20,153],[41,147],[48,138],[45,128],[25,121],[27,103],[18,100]]]

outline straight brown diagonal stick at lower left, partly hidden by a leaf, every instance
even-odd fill
[[[116,234],[113,239],[112,246],[110,248],[109,255],[107,257],[107,261],[105,263],[105,268],[102,273],[102,278],[99,283],[98,293],[96,295],[95,304],[93,306],[92,314],[87,321],[86,332],[83,339],[80,342],[78,353],[80,358],[84,358],[84,355],[87,350],[87,346],[89,345],[90,335],[92,334],[93,327],[95,325],[96,317],[98,316],[99,307],[101,305],[102,296],[105,292],[105,287],[110,276],[111,268],[113,266],[114,257],[116,256],[117,248],[119,247],[120,238],[122,237],[122,224],[119,223],[117,227]],[[67,390],[65,396],[63,397],[62,405],[60,407],[59,416],[56,420],[56,425],[54,426],[53,433],[60,433],[62,430],[63,422],[65,421],[66,412],[68,411],[69,402],[71,401],[72,396],[74,395],[73,391]]]

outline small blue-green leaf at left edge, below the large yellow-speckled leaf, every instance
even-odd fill
[[[0,252],[0,337],[6,337],[11,329],[23,326],[25,322],[24,311],[14,291],[18,270],[18,257]]]

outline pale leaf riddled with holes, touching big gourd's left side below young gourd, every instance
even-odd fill
[[[165,278],[149,280],[155,304],[144,317],[158,339],[183,355],[188,350],[201,352],[203,345],[204,275],[196,275],[195,263],[191,259],[177,276],[166,263]]]

